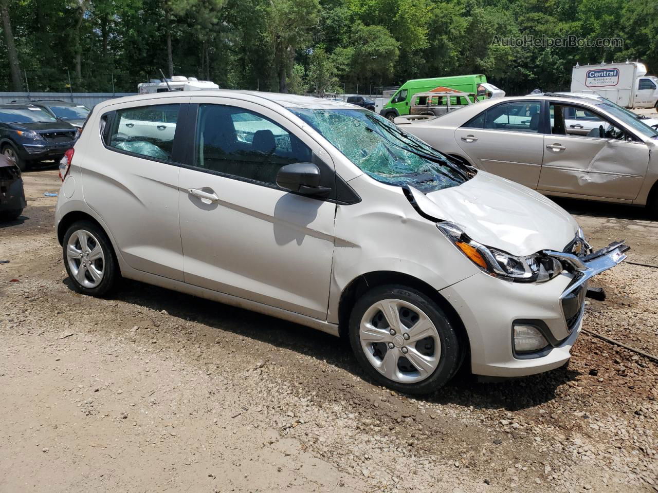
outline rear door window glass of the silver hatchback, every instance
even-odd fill
[[[119,151],[169,160],[180,105],[140,106],[117,110],[109,145]]]

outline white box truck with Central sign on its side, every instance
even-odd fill
[[[576,64],[571,92],[598,94],[626,108],[655,108],[658,78],[647,76],[647,67],[639,62]]]

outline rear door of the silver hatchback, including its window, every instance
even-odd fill
[[[183,280],[178,222],[181,129],[172,123],[170,133],[154,137],[149,126],[176,121],[188,101],[189,96],[166,97],[114,106],[100,116],[101,145],[86,151],[82,168],[85,200],[109,227],[128,265],[178,281]],[[154,119],[156,114],[160,121]]]

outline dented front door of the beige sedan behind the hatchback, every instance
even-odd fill
[[[633,200],[649,164],[645,143],[603,116],[588,112],[592,129],[580,134],[565,116],[582,113],[576,105],[550,105],[551,133],[545,135],[540,191]],[[591,118],[597,118],[593,121]]]

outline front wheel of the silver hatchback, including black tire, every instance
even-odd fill
[[[374,381],[407,394],[440,389],[462,360],[449,317],[429,296],[403,285],[375,287],[357,300],[349,340]]]

